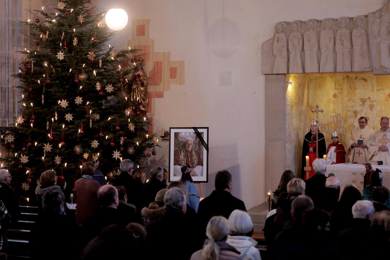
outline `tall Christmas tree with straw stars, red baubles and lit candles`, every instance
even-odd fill
[[[12,152],[2,163],[21,196],[34,197],[46,169],[73,184],[92,153],[106,174],[122,158],[142,167],[154,151],[149,121],[137,100],[130,100],[127,78],[140,66],[134,62],[137,50],[107,46],[113,33],[104,12],[94,13],[89,2],[59,1],[55,14],[39,10],[27,22],[36,42],[34,50],[22,51],[25,59],[14,75],[21,82],[22,109],[15,125],[0,128]]]

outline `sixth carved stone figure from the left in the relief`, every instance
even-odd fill
[[[360,15],[353,18],[356,27],[352,30],[352,71],[371,71],[368,55],[367,32],[363,28],[365,17]]]

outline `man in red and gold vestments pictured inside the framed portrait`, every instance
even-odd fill
[[[174,151],[174,176],[181,176],[181,167],[187,164],[191,169],[191,176],[203,176],[203,160],[198,150],[193,147],[194,139],[186,137],[183,144]]]

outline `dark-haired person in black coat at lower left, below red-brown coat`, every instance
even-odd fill
[[[78,259],[80,236],[76,222],[64,211],[64,194],[45,192],[42,204],[43,213],[35,221],[28,241],[30,259]]]

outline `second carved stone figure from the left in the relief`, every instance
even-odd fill
[[[298,30],[301,28],[300,21],[293,21],[290,23],[290,28],[293,30],[289,36],[289,54],[290,54],[290,66],[289,73],[303,73],[302,66],[302,50],[303,50],[303,38],[301,32]]]

